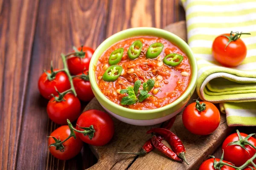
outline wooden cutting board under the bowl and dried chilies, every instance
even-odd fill
[[[184,21],[171,24],[165,28],[186,41],[186,23]],[[194,93],[192,99],[198,98]],[[98,109],[104,111],[96,98],[94,98],[84,109]],[[182,113],[182,112],[181,112]],[[141,149],[145,141],[150,138],[145,134],[150,127],[160,127],[160,124],[153,126],[134,126],[113,118],[115,125],[115,134],[111,142],[102,147],[90,146],[96,155],[98,162],[88,170],[196,170],[199,165],[212,154],[216,148],[223,142],[224,138],[231,131],[227,126],[225,115],[221,114],[221,123],[214,133],[208,136],[196,136],[190,133],[183,126],[182,115],[177,115],[176,121],[172,127],[174,132],[186,147],[186,159],[190,165],[178,163],[170,160],[162,153],[154,149],[145,156],[134,156],[127,154],[118,154],[118,151],[137,152]],[[166,142],[167,146],[169,146]]]

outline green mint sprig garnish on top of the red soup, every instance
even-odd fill
[[[149,79],[143,83],[143,89],[140,89],[141,81],[137,80],[134,83],[134,87],[128,87],[122,89],[120,94],[128,94],[121,100],[121,105],[134,105],[136,102],[143,102],[145,99],[151,96],[148,92],[154,87],[154,80]]]

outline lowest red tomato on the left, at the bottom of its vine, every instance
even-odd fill
[[[76,133],[76,132],[75,132]],[[59,139],[63,141],[70,135],[70,129],[68,125],[64,125],[59,127],[58,129],[54,130],[50,136],[55,137],[56,139]],[[77,136],[77,133],[76,133]],[[48,145],[55,143],[54,139],[49,137],[48,139]],[[51,146],[49,147],[50,153],[58,159],[61,160],[68,160],[73,157],[75,157],[79,152],[81,151],[83,147],[83,142],[78,137],[74,139],[71,137],[66,142],[63,143],[64,146],[64,152],[61,152],[60,150],[56,150],[56,147]]]

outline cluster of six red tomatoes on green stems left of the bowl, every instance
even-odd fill
[[[81,114],[80,100],[89,102],[94,97],[88,71],[84,71],[89,68],[94,50],[90,47],[80,47],[76,51],[83,51],[84,55],[76,56],[73,52],[65,56],[72,77],[65,69],[51,67],[51,70],[45,71],[38,80],[40,94],[49,100],[49,118],[62,125],[54,130],[48,139],[49,146],[55,146],[49,147],[50,153],[61,160],[76,156],[81,151],[83,142],[96,146],[107,144],[114,133],[113,120],[107,113],[89,110]],[[73,89],[75,93],[72,92]],[[68,122],[77,120],[76,127],[71,123],[67,125],[67,119]]]

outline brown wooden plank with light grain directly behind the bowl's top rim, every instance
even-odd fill
[[[179,0],[111,0],[106,37],[133,27],[164,28],[184,20]],[[179,16],[183,17],[179,17]]]

